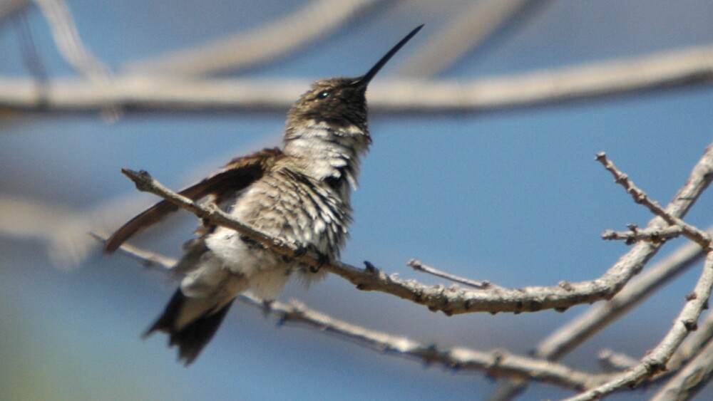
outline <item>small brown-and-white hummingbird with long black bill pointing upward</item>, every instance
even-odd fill
[[[371,145],[366,87],[423,25],[356,78],[317,80],[290,108],[282,149],[237,157],[180,194],[215,202],[243,224],[297,249],[339,258],[352,222],[351,192],[359,160]],[[141,229],[178,209],[161,201],[121,226],[106,241],[107,253]],[[163,313],[146,330],[168,334],[178,359],[193,363],[220,327],[235,297],[252,291],[265,301],[282,293],[291,276],[311,283],[325,273],[277,254],[237,231],[203,221],[173,266],[180,285]]]

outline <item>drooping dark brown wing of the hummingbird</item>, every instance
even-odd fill
[[[249,156],[237,157],[219,172],[203,179],[198,184],[183,189],[179,193],[194,201],[211,194],[215,195],[217,199],[223,199],[227,194],[245,189],[256,179],[260,179],[280,155],[282,155],[282,152],[275,147],[273,149],[260,150],[260,152],[255,152]],[[176,210],[178,210],[178,207],[166,200],[154,204],[116,230],[106,241],[104,251],[107,253],[116,251],[124,241],[138,231],[160,222],[167,214]]]

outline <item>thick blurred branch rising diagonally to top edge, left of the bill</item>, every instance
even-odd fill
[[[342,28],[385,0],[313,0],[282,19],[252,31],[213,39],[193,48],[133,61],[128,73],[204,75],[268,63]],[[309,21],[309,24],[305,24]]]

